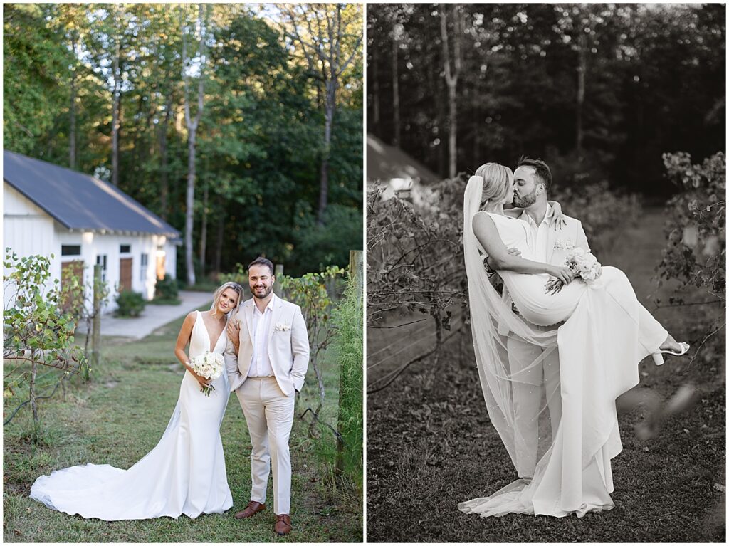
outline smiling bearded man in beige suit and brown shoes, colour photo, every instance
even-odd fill
[[[225,368],[246,416],[251,452],[251,502],[235,518],[265,509],[269,469],[273,470],[274,531],[291,532],[289,435],[294,399],[309,364],[306,324],[298,305],[273,293],[273,263],[257,258],[248,266],[252,299],[228,321]]]

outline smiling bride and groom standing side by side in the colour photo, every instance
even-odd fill
[[[192,311],[184,319],[174,353],[186,371],[172,417],[152,451],[128,470],[109,464],[56,470],[35,481],[31,499],[53,510],[107,521],[182,514],[197,518],[229,510],[233,496],[220,424],[230,391],[235,391],[252,443],[251,499],[235,518],[265,510],[272,470],[273,530],[289,534],[289,435],[295,395],[308,368],[309,343],[301,309],[273,294],[275,281],[273,263],[259,257],[248,266],[252,299],[243,302],[241,285],[227,282],[215,291],[210,311]],[[203,357],[222,368],[216,378],[200,373],[194,364]]]

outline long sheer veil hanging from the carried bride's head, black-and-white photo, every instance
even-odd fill
[[[557,330],[542,331],[526,323],[504,300],[494,286],[491,285],[483,260],[486,255],[473,232],[473,217],[480,209],[483,194],[483,177],[471,176],[464,195],[464,257],[468,276],[468,295],[471,313],[471,332],[476,356],[476,365],[480,378],[483,397],[491,423],[504,442],[514,467],[518,469],[518,461],[534,458],[536,453],[524,453],[530,449],[526,439],[520,437],[515,426],[516,407],[513,390],[518,383],[531,385],[541,389],[541,383],[530,383],[529,370],[541,366],[542,361],[557,346]],[[509,364],[507,340],[516,336],[544,350],[531,363],[522,363],[520,370],[511,370]],[[559,396],[558,392],[547,392],[546,397]],[[545,407],[545,406],[544,406]],[[542,410],[544,409],[542,407]],[[533,448],[532,448],[533,449]],[[524,482],[518,480],[496,494],[507,490],[521,491]],[[515,499],[516,500],[516,499]],[[468,511],[469,503],[461,503],[459,508]],[[510,511],[504,507],[504,512]]]

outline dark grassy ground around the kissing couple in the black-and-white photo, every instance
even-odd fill
[[[599,258],[623,268],[641,300],[653,291],[652,268],[663,238],[660,216],[644,214],[626,230],[630,246]],[[663,292],[668,292],[666,286]],[[651,306],[648,305],[650,309]],[[716,310],[721,312],[719,308]],[[694,348],[706,308],[666,308],[656,315]],[[421,317],[400,317],[402,324]],[[370,329],[367,381],[372,384],[429,346],[425,341],[382,364],[394,340],[421,338],[426,322]],[[432,331],[432,328],[431,330]],[[724,332],[716,338],[723,338]],[[367,396],[368,542],[725,542],[725,352],[723,340],[699,358],[640,364],[642,387],[668,397],[691,381],[698,403],[674,417],[658,437],[638,440],[641,408],[620,416],[623,453],[612,461],[615,508],[584,518],[506,515],[478,518],[456,508],[516,479],[509,456],[488,420],[470,348],[470,332],[432,358],[413,364],[391,386]]]

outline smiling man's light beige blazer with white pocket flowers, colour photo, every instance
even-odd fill
[[[276,297],[274,302],[268,330],[268,357],[279,388],[287,397],[292,397],[304,384],[309,365],[309,339],[301,308],[280,297]],[[233,317],[241,324],[241,346],[236,358],[233,343],[227,340],[225,370],[230,391],[238,390],[248,378],[253,356],[254,305],[254,298],[247,300],[241,305],[238,315]]]

